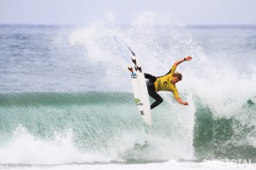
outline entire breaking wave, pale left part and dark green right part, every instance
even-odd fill
[[[255,118],[251,100],[240,117],[227,119],[216,118],[197,99],[195,125],[189,109],[163,103],[149,127],[127,92],[2,93],[0,99],[2,164],[152,162],[194,155],[255,160],[255,126],[247,120]]]

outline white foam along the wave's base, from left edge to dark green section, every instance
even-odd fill
[[[149,147],[135,149],[135,144]],[[124,161],[155,161],[168,159],[193,159],[192,150],[186,143],[157,134],[147,134],[143,129],[124,132],[106,142],[106,149],[82,151],[73,141],[73,132],[56,133],[52,139],[36,138],[23,126],[18,126],[8,144],[0,148],[0,164],[60,165]]]

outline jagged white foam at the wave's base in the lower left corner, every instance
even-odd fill
[[[9,144],[0,148],[0,164],[56,165],[95,161],[111,160],[97,153],[81,153],[72,141],[71,131],[64,136],[56,134],[53,140],[44,140],[19,126]]]

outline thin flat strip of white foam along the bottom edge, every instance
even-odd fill
[[[101,164],[101,165],[90,165],[90,164],[73,164],[73,165],[61,165],[61,166],[47,166],[47,167],[28,167],[29,169],[37,169],[37,170],[44,170],[44,169],[51,169],[51,170],[187,170],[187,169],[195,169],[195,170],[202,170],[202,169],[212,169],[212,170],[233,170],[233,169],[246,169],[251,170],[255,169],[255,164],[235,164],[235,163],[224,163],[220,161],[212,161],[212,162],[186,162],[186,161],[168,161],[164,163],[149,163],[149,164]],[[12,169],[12,168],[9,168]],[[24,169],[24,167],[15,167],[14,169]]]

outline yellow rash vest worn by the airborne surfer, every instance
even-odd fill
[[[172,79],[174,78],[174,72],[177,66],[173,66],[169,73],[162,77],[158,77],[154,83],[155,91],[172,91],[174,93],[174,97],[180,98],[178,90],[174,84],[172,84]]]

